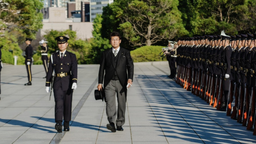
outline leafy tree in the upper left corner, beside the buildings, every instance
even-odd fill
[[[43,27],[42,0],[1,0],[0,33],[12,33],[18,41],[24,37],[35,38],[35,33]]]

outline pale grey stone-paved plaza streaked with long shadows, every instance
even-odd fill
[[[0,144],[255,144],[245,126],[181,88],[168,62],[134,63],[124,131],[110,132],[105,102],[94,99],[99,65],[78,65],[70,131],[56,133],[54,97],[45,91],[43,65],[4,64],[1,71]]]

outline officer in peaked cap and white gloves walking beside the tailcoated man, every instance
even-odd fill
[[[62,120],[64,119],[64,131],[69,131],[71,120],[72,94],[77,87],[77,60],[74,53],[68,52],[68,40],[66,36],[58,36],[59,52],[52,53],[46,76],[46,92],[50,91],[53,70],[53,94],[55,99],[55,129],[62,132]],[[71,72],[71,73],[70,73]]]

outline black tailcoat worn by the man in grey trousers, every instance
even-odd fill
[[[103,84],[104,80],[104,88],[110,82],[113,77],[115,71],[117,73],[119,82],[123,86],[123,88],[127,85],[127,80],[133,80],[133,59],[131,58],[130,51],[123,49],[120,47],[120,50],[117,55],[117,63],[114,65],[113,51],[111,49],[107,49],[102,53],[101,63],[99,67],[99,83]],[[105,76],[104,76],[105,71]],[[128,72],[128,75],[127,75]]]

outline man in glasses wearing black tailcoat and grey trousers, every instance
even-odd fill
[[[104,80],[106,112],[109,122],[107,129],[111,130],[111,132],[116,132],[116,130],[123,131],[126,95],[127,89],[133,81],[134,65],[130,52],[120,47],[121,36],[119,33],[111,33],[110,43],[112,48],[105,50],[101,56],[99,85],[97,88],[99,91],[103,88],[102,83]],[[128,75],[126,71],[128,71]],[[117,111],[116,95],[118,100]],[[117,128],[114,123],[116,123]]]

